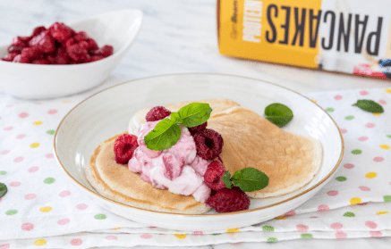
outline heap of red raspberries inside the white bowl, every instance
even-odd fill
[[[47,29],[39,26],[30,37],[14,37],[7,50],[2,61],[58,65],[96,62],[114,52],[113,46],[99,48],[85,32],[76,32],[63,22]]]

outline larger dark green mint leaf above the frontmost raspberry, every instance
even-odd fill
[[[268,186],[268,176],[264,172],[254,168],[237,170],[234,172],[231,180],[243,192],[252,192]]]

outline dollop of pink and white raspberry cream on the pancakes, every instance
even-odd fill
[[[156,188],[167,188],[178,195],[193,195],[198,202],[205,203],[211,193],[203,178],[208,161],[197,155],[189,129],[181,125],[181,137],[174,146],[163,151],[149,150],[144,144],[144,137],[158,122],[149,121],[140,125],[139,147],[128,162],[129,170],[140,173],[142,180]],[[132,131],[129,130],[129,133]]]

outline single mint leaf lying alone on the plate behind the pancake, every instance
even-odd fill
[[[269,104],[265,108],[265,118],[282,128],[293,119],[293,112],[285,104]]]

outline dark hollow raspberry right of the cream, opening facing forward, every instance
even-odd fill
[[[214,160],[223,150],[223,137],[216,130],[201,130],[193,138],[197,147],[197,154],[205,160]]]

